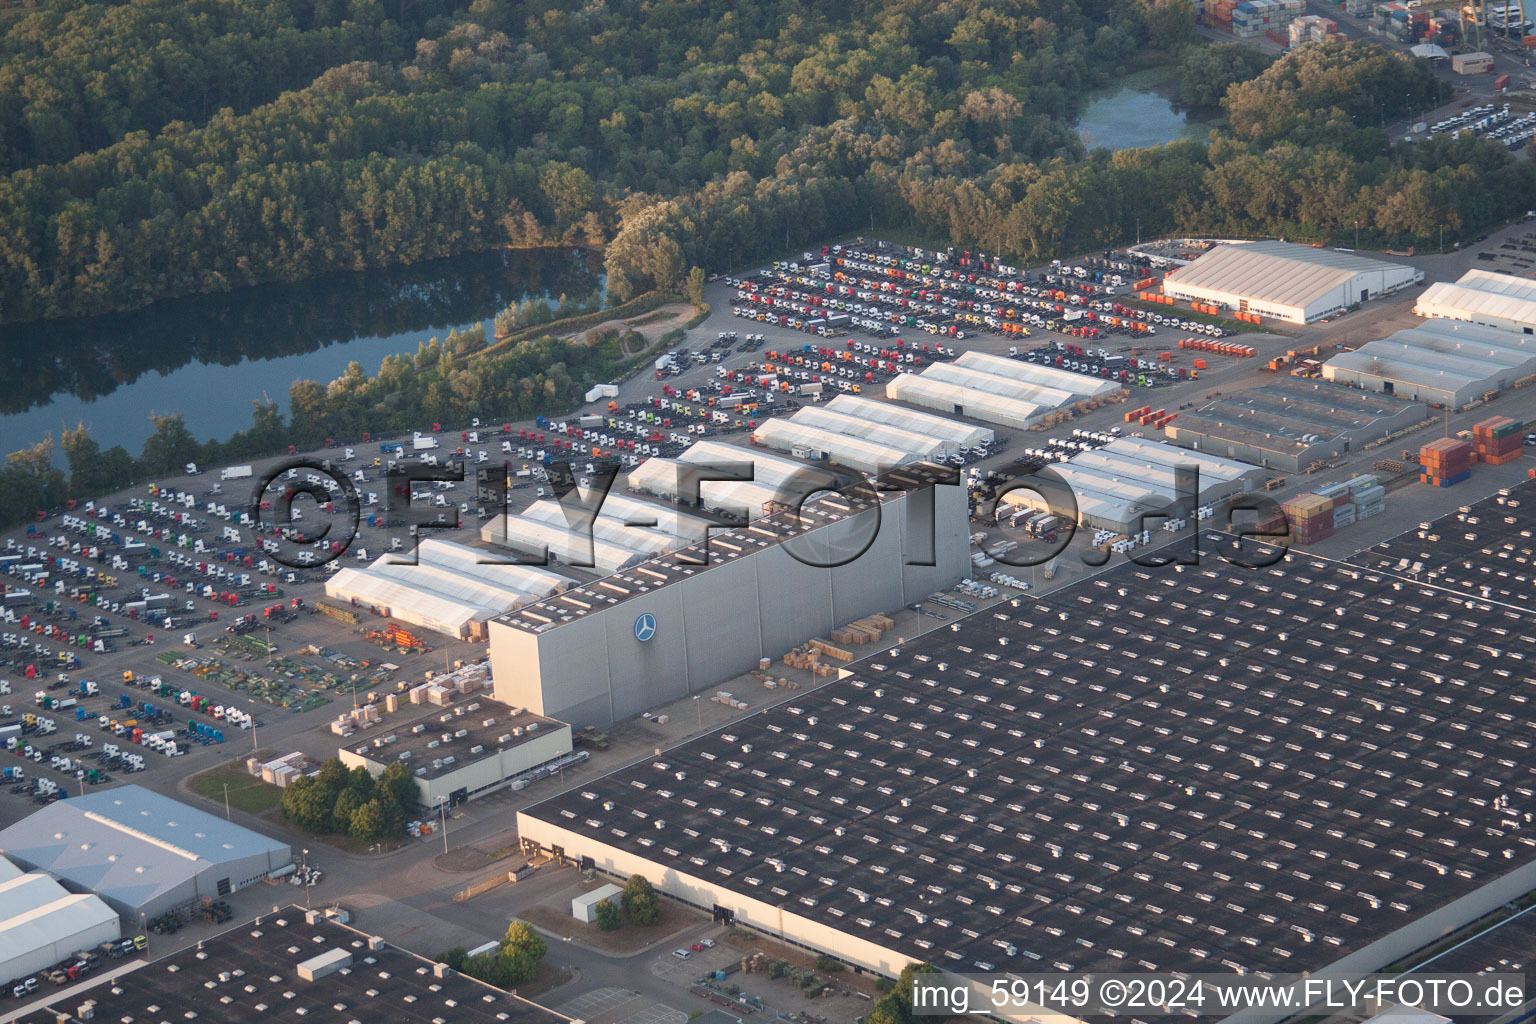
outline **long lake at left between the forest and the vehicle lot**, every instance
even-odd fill
[[[585,250],[493,252],[0,327],[3,451],[84,422],[103,448],[138,454],[151,411],[224,439],[250,425],[255,401],[286,410],[293,381],[329,382],[352,361],[373,375],[450,329],[484,322],[488,335],[508,302],[602,287]]]

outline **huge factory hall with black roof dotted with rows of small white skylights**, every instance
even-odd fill
[[[1484,556],[1530,557],[1518,525],[1479,519]],[[544,801],[519,831],[885,973],[1369,970],[1536,884],[1536,840],[1505,824],[1536,788],[1518,754],[1530,597],[1507,608],[1479,582],[1306,556],[1117,565]]]

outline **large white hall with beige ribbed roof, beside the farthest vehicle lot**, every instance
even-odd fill
[[[1170,270],[1163,293],[1310,324],[1422,279],[1422,270],[1352,252],[1252,241],[1220,244]]]

